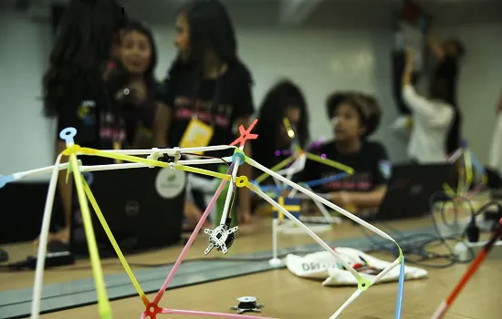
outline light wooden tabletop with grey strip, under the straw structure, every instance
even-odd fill
[[[380,225],[375,224],[377,227]],[[403,233],[432,232],[428,217],[389,222]],[[384,227],[382,227],[385,230]],[[387,230],[385,230],[387,232]],[[389,232],[391,233],[391,232]],[[392,234],[391,234],[392,235]],[[359,228],[348,221],[334,226],[320,237],[334,246],[349,246],[361,250],[371,242],[362,236]],[[397,237],[394,237],[397,238]],[[204,257],[207,246],[204,234],[199,234],[186,259],[222,257],[221,252],[211,252]],[[320,247],[306,234],[280,234],[278,246],[284,252],[314,252]],[[5,245],[11,261],[22,260],[35,253],[31,243]],[[132,269],[145,292],[152,292],[152,299],[181,252],[182,246],[154,252],[134,254],[127,258],[135,264]],[[271,221],[262,219],[257,232],[241,234],[226,258],[253,259],[247,262],[221,260],[192,261],[183,263],[174,276],[170,290],[164,293],[163,307],[176,309],[213,311],[233,314],[228,309],[238,302],[236,297],[254,295],[265,304],[262,314],[276,318],[329,318],[343,304],[355,287],[323,287],[318,281],[298,278],[287,269],[270,270],[267,258],[271,255]],[[375,253],[376,257],[392,261],[392,256]],[[145,267],[145,264],[156,267]],[[164,265],[162,265],[164,264]],[[102,261],[107,278],[114,318],[139,318],[144,306],[135,294],[132,284],[115,259]],[[441,301],[450,293],[465,273],[467,264],[455,264],[449,268],[429,271],[429,278],[406,281],[404,284],[403,318],[430,318]],[[28,317],[33,286],[33,272],[0,273],[0,318]],[[44,278],[43,310],[64,309],[44,314],[42,318],[99,318],[96,295],[93,290],[89,261],[78,260],[75,265],[47,270]],[[487,259],[476,275],[457,298],[445,318],[496,319],[502,313],[499,296],[502,287],[500,262]],[[124,298],[125,296],[131,296]],[[340,315],[340,318],[387,319],[393,318],[397,283],[372,286]],[[77,306],[78,307],[72,307]],[[158,318],[188,318],[186,315],[160,314]]]

